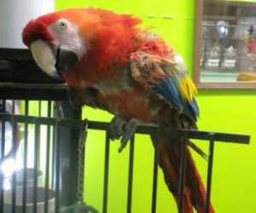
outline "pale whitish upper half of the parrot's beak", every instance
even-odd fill
[[[40,69],[52,78],[59,78],[55,68],[55,55],[53,55],[49,45],[42,40],[38,40],[31,44],[30,49]]]

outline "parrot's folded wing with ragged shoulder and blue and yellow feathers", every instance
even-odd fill
[[[175,59],[137,51],[130,57],[131,76],[145,89],[155,93],[177,107],[194,122],[199,116],[195,101],[195,84],[189,78],[181,57]]]

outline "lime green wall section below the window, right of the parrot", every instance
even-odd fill
[[[200,90],[201,130],[252,135],[249,146],[215,147],[212,202],[217,212],[256,212],[256,91]],[[200,167],[202,169],[202,167]]]

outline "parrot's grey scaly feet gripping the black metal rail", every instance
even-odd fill
[[[116,116],[110,122],[110,139],[119,139],[121,136],[121,145],[119,147],[119,153],[126,147],[128,141],[130,141],[132,135],[134,135],[137,125],[140,124],[140,120],[137,118],[131,118],[129,122],[126,122],[123,118]]]

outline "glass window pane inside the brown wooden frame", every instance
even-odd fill
[[[204,1],[200,82],[256,81],[256,1]]]

